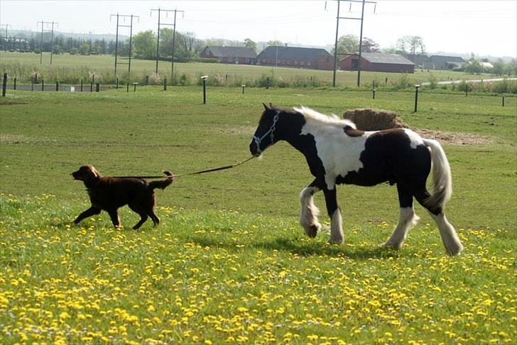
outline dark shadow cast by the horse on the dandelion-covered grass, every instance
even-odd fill
[[[232,243],[222,243],[217,239],[199,237],[193,238],[192,241],[204,247],[218,247],[225,248],[229,251],[237,250]],[[390,248],[381,246],[372,246],[368,248],[346,246],[328,245],[320,241],[299,241],[297,239],[277,238],[271,241],[260,241],[255,243],[248,243],[245,246],[256,248],[257,250],[265,251],[283,251],[296,254],[298,256],[330,256],[330,257],[344,257],[353,260],[368,260],[371,258],[390,258],[398,257],[398,251],[393,251]]]

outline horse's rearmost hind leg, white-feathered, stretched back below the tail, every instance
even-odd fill
[[[459,241],[459,237],[456,234],[454,226],[452,226],[445,217],[442,205],[427,205],[425,203],[425,200],[428,199],[429,196],[430,194],[425,190],[425,188],[423,191],[415,193],[415,198],[423,207],[425,207],[425,209],[428,210],[432,220],[434,220],[438,226],[438,230],[440,230],[440,236],[442,237],[442,242],[447,253],[450,255],[457,255],[463,249],[462,242]]]

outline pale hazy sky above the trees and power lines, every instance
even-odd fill
[[[325,46],[333,45],[336,35],[337,1],[316,0],[1,0],[0,30],[5,31],[8,24],[8,32],[40,31],[38,21],[54,21],[60,32],[114,34],[116,20],[111,14],[119,13],[138,16],[134,33],[156,31],[158,13],[151,9],[158,8],[183,11],[176,19],[178,31],[190,31],[202,39]],[[339,16],[360,18],[361,4],[341,1]],[[162,12],[160,21],[173,23],[173,13]],[[339,35],[359,37],[360,23],[340,19]],[[50,30],[50,25],[44,29]],[[119,32],[129,35],[129,28]],[[376,0],[365,5],[364,37],[391,48],[403,35],[423,38],[428,53],[517,57],[517,0]]]

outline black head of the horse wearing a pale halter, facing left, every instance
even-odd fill
[[[249,152],[254,156],[261,155],[263,150],[275,143],[275,126],[280,111],[271,103],[269,105],[263,104],[263,106],[265,109],[258,121],[251,143],[249,143]]]

